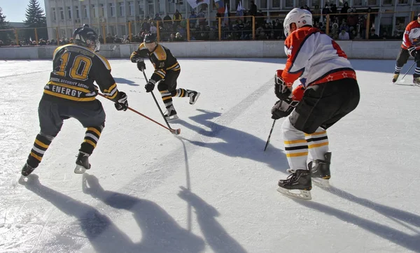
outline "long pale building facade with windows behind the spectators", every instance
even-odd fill
[[[230,13],[236,13],[239,0],[224,1]],[[246,10],[250,1],[241,1]],[[196,13],[200,9],[207,13],[209,24],[216,20],[214,0],[210,2],[209,8],[203,3],[196,9]],[[373,12],[378,13],[375,27],[385,26],[392,31],[397,23],[407,24],[412,19],[413,11],[420,12],[420,0],[255,0],[258,10],[267,20],[285,15],[295,7],[307,5],[311,10],[315,6],[322,9],[325,4],[335,3],[339,10],[346,2],[358,12],[372,8]],[[90,24],[102,36],[128,35],[128,22],[132,22],[132,33],[137,33],[141,20],[147,16],[154,18],[159,14],[163,18],[169,13],[172,17],[176,10],[185,19],[190,17],[190,10],[193,9],[186,0],[45,0],[49,38],[71,38],[73,31],[83,24]]]

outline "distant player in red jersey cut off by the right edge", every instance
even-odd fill
[[[392,82],[398,80],[401,68],[407,63],[410,55],[414,57],[414,61],[416,62],[413,83],[420,85],[420,13],[417,15],[417,20],[410,22],[407,24],[407,27],[405,27]]]

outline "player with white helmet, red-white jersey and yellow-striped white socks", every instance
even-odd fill
[[[360,94],[346,54],[328,35],[312,27],[308,10],[290,10],[283,25],[288,59],[284,70],[274,76],[280,100],[272,108],[272,118],[286,117],[281,129],[291,175],[279,180],[278,191],[311,199],[311,178],[328,182],[331,176],[326,129],[356,108]],[[298,78],[300,85],[292,92]]]

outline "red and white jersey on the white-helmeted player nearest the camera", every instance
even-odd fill
[[[284,42],[288,57],[281,78],[288,86],[300,78],[306,88],[344,78],[356,79],[346,54],[332,38],[314,27],[293,31]]]

